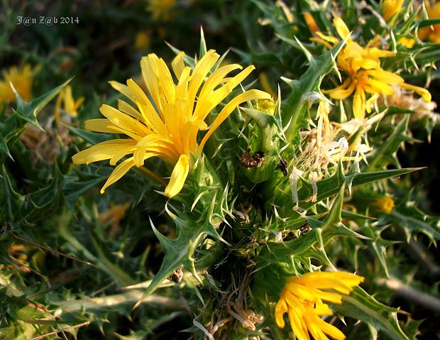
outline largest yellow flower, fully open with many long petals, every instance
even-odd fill
[[[128,79],[127,84],[110,82],[114,89],[121,92],[136,104],[132,106],[119,100],[118,109],[109,105],[102,105],[101,114],[105,119],[89,119],[86,128],[92,131],[106,133],[123,133],[128,138],[105,141],[83,150],[73,156],[74,163],[91,163],[98,160],[110,160],[110,165],[116,165],[123,160],[101,189],[119,180],[133,166],[143,168],[144,160],[158,156],[167,163],[175,165],[170,182],[165,188],[167,197],[173,197],[182,190],[189,169],[192,167],[192,154],[198,156],[202,152],[216,128],[236,109],[248,100],[270,99],[270,94],[251,89],[238,94],[227,103],[208,128],[204,119],[207,118],[245,79],[255,68],[246,67],[234,77],[226,77],[230,72],[242,67],[238,64],[225,65],[211,72],[219,60],[214,50],[209,50],[197,62],[194,70],[184,65],[185,53],[180,53],[172,61],[172,70],[178,79],[177,84],[172,79],[167,65],[155,54],[143,57],[141,69],[148,92],[153,99],[150,102],[142,89]],[[209,75],[211,72],[211,75]],[[197,143],[197,134],[200,130],[207,130],[200,144]],[[149,170],[147,170],[149,171]]]

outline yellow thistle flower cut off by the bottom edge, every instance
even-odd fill
[[[306,273],[300,278],[291,278],[275,306],[275,322],[284,328],[284,313],[287,312],[290,327],[298,340],[309,340],[309,333],[316,340],[328,340],[326,335],[343,340],[346,336],[339,329],[321,319],[321,316],[333,314],[323,301],[341,304],[341,294],[350,294],[363,280],[361,276],[343,272]]]

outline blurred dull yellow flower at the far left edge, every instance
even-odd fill
[[[31,65],[22,67],[10,67],[9,70],[1,72],[3,79],[0,80],[0,105],[9,104],[16,101],[10,82],[16,89],[21,98],[29,102],[32,97],[33,77],[38,72],[39,67],[31,68]]]

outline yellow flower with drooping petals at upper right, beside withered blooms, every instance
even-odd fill
[[[350,35],[350,31],[341,18],[334,18],[334,26],[339,36],[344,39]],[[327,37],[317,32],[320,39],[312,40],[336,45],[339,41],[333,37]],[[431,94],[427,89],[406,84],[404,79],[395,73],[388,72],[380,67],[381,57],[392,57],[395,52],[380,50],[372,47],[376,39],[371,40],[363,48],[348,36],[346,46],[339,52],[337,65],[340,70],[348,76],[339,87],[323,91],[328,93],[333,99],[345,99],[354,92],[353,96],[353,115],[356,119],[362,119],[365,110],[370,113],[370,107],[378,99],[379,94],[389,95],[394,92],[393,86],[400,86],[417,92],[427,102],[431,101]],[[369,95],[369,99],[367,96]]]

